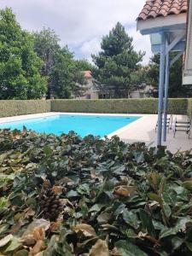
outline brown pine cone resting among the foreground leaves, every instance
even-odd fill
[[[41,211],[44,212],[44,218],[55,221],[63,208],[59,196],[55,195],[51,189],[44,189],[39,195],[39,200]]]

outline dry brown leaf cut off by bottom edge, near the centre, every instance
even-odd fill
[[[108,244],[101,239],[90,249],[90,256],[109,256]]]

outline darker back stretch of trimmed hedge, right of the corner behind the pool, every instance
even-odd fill
[[[156,113],[158,99],[53,100],[51,111],[71,113]],[[169,99],[168,113],[186,114],[187,99]]]

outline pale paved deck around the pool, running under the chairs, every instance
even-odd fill
[[[143,142],[148,146],[156,146],[156,132],[155,125],[157,122],[156,114],[113,114],[113,113],[36,113],[36,114],[27,114],[14,117],[0,118],[0,123],[11,122],[21,119],[34,119],[41,117],[54,116],[56,114],[79,114],[79,115],[108,115],[108,116],[140,116],[140,119],[137,119],[135,122],[130,125],[126,125],[123,128],[111,133],[108,137],[113,135],[119,136],[119,138],[125,143],[136,143]],[[172,125],[174,124],[175,119],[185,121],[187,116],[184,115],[173,115],[172,116]],[[168,150],[172,153],[179,151],[185,151],[192,149],[192,135],[189,139],[188,135],[185,132],[177,132],[176,137],[173,137],[173,131],[169,130],[167,133],[167,141],[163,143]]]

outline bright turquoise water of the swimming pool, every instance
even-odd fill
[[[89,134],[103,137],[137,119],[139,117],[60,114],[52,117],[7,122],[0,124],[0,129],[22,130],[23,125],[25,125],[28,130],[38,133],[61,135],[61,133],[75,131],[81,137]]]

